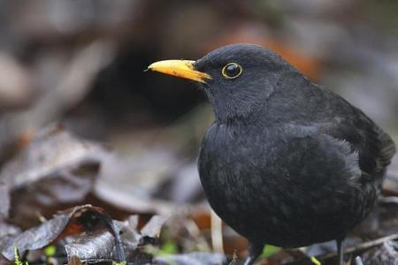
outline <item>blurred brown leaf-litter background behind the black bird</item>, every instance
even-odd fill
[[[28,228],[83,203],[175,213],[194,222],[180,247],[210,249],[195,167],[210,106],[195,84],[143,71],[233,42],[277,51],[398,142],[396,1],[0,0],[3,218]],[[225,230],[226,252],[244,249]]]

